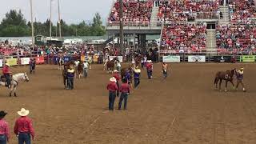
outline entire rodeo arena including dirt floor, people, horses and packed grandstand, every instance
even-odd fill
[[[106,34],[1,42],[0,144],[256,143],[254,0],[115,0]]]

